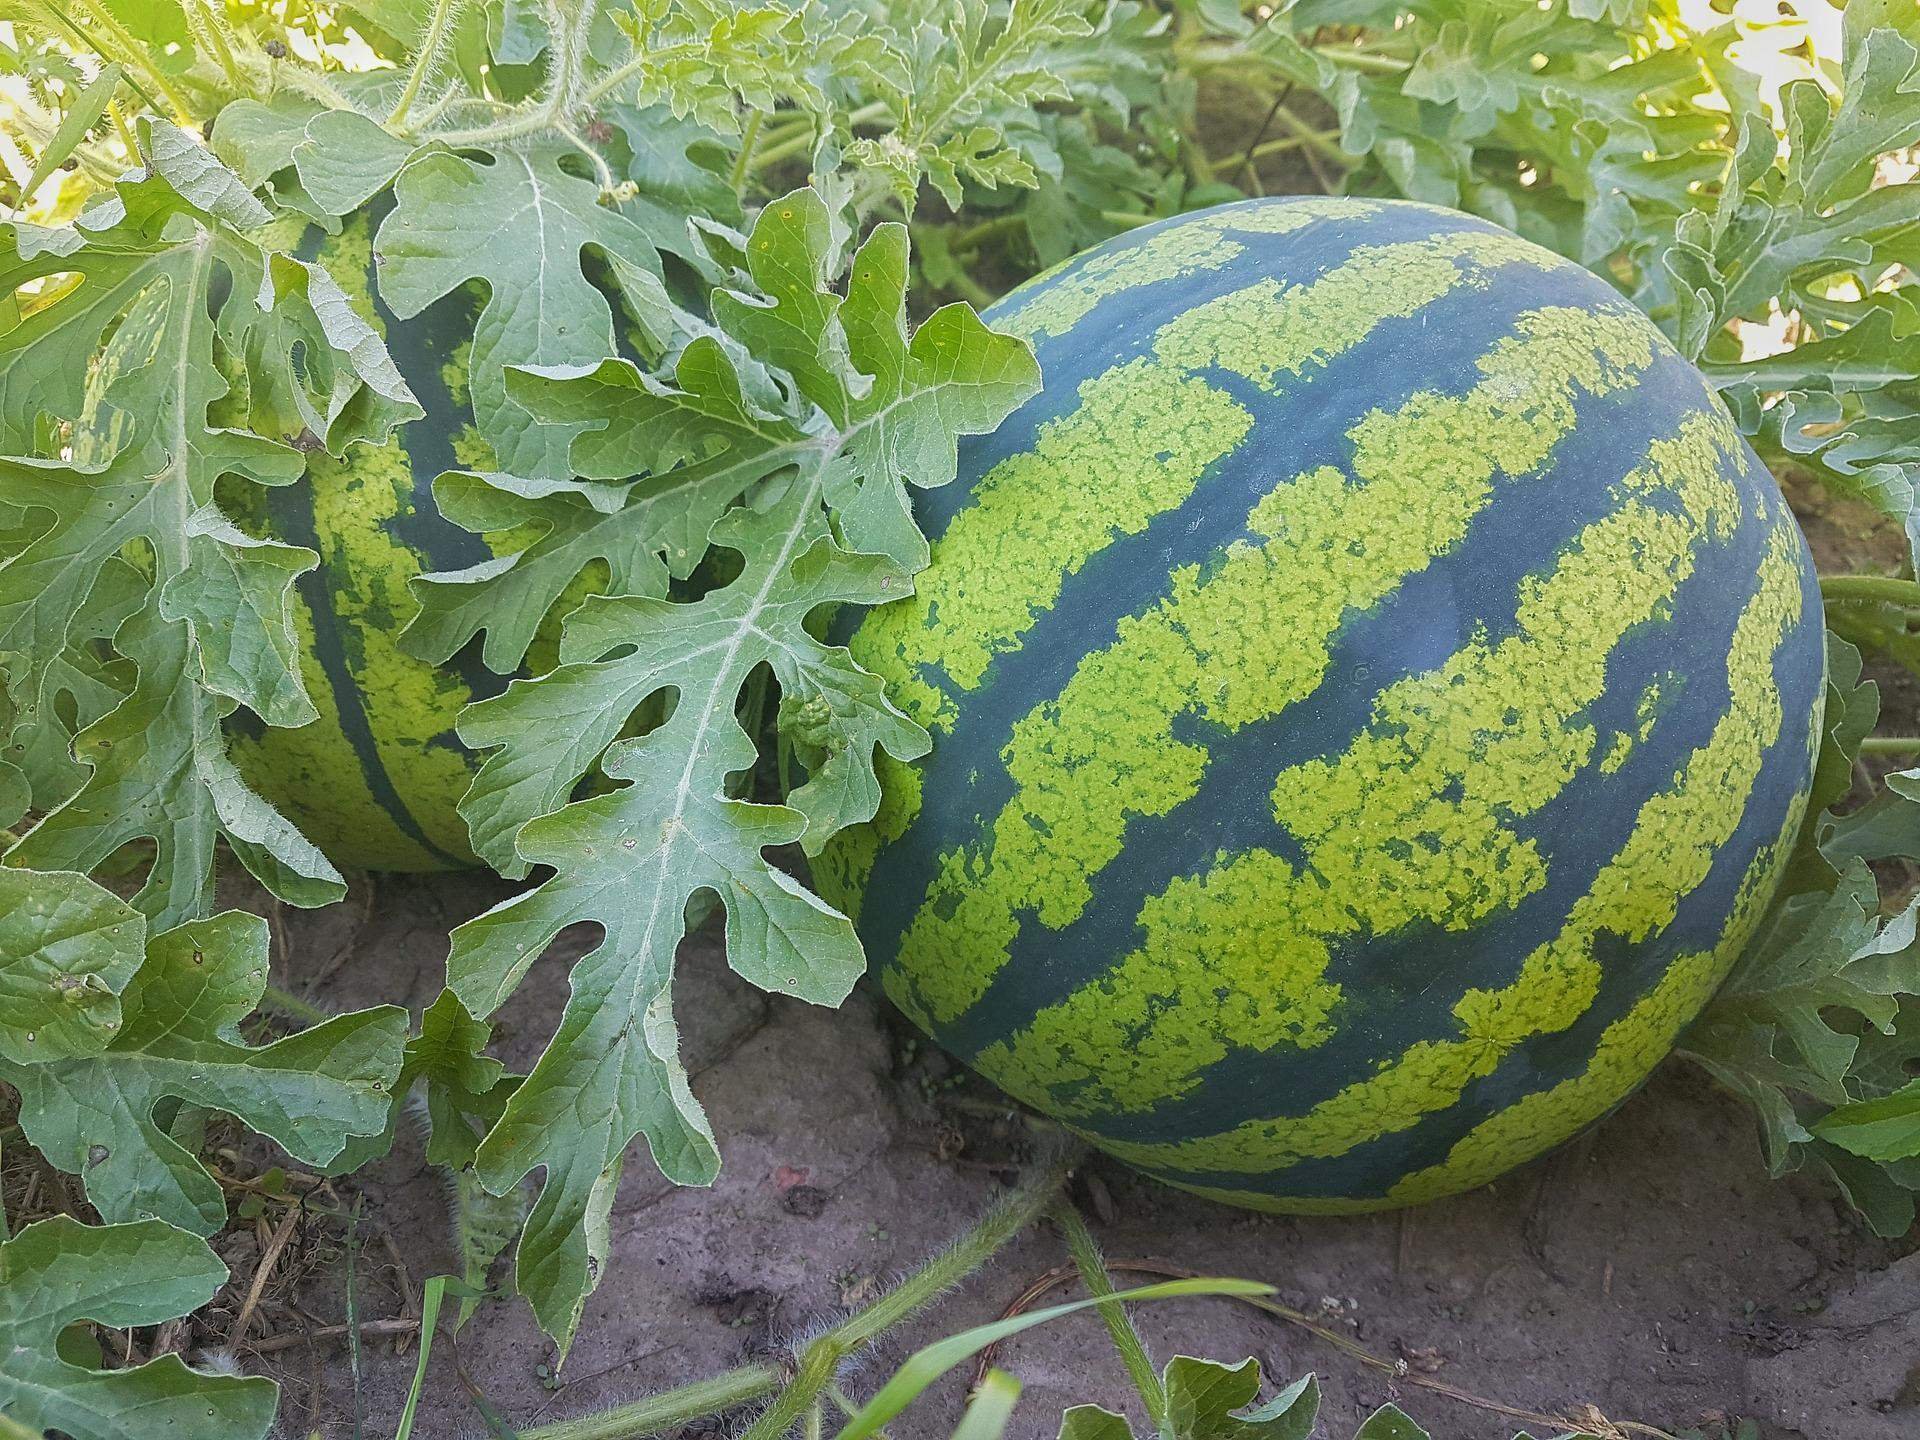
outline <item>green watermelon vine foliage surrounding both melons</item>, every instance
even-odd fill
[[[1920,755],[1874,733],[1862,668],[1920,674],[1920,19],[1853,0],[1826,63],[1784,54],[1791,17],[1776,35],[1692,10],[19,8],[0,23],[0,1081],[104,1225],[42,1221],[0,1256],[67,1256],[88,1283],[119,1256],[146,1296],[127,1315],[180,1313],[225,1202],[190,1125],[156,1114],[228,1112],[338,1171],[424,1089],[430,1158],[478,1187],[476,1213],[513,1212],[541,1171],[513,1283],[564,1356],[632,1140],[676,1183],[720,1164],[672,1010],[689,916],[718,902],[728,962],[766,991],[837,1004],[864,972],[849,918],[774,852],[872,820],[876,756],[929,745],[824,616],[912,591],[912,488],[948,484],[962,438],[1041,384],[977,307],[1096,240],[1263,192],[1275,157],[1586,265],[1795,493],[1901,532],[1897,572],[1824,584],[1809,820],[1682,1054],[1751,1102],[1774,1173],[1814,1167],[1907,1233],[1920,902],[1899,866],[1920,862],[1920,770],[1864,803],[1857,770]],[[1223,96],[1258,121],[1229,154],[1200,123]],[[369,294],[317,257],[357,234]],[[407,442],[424,386],[394,328],[449,307],[470,430],[432,493],[470,545],[382,614],[413,660],[486,674],[457,720],[480,756],[459,820],[530,883],[451,933],[417,1031],[380,1006],[248,1043],[238,1023],[275,1002],[269,925],[225,906],[221,856],[273,904],[357,881],[238,760],[236,737],[324,708],[300,599],[323,553],[275,505]],[[601,939],[538,1064],[507,1075],[486,1021],[576,924]],[[492,1248],[511,1225],[482,1229]],[[48,1323],[0,1315],[56,1375]],[[1221,1384],[1181,1365],[1142,1371],[1146,1390]],[[200,1384],[225,1432],[261,1428],[257,1386],[182,1369],[127,1371],[111,1405]],[[1123,1432],[1091,1411],[1071,1428]]]

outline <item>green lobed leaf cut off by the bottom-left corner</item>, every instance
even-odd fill
[[[205,1240],[157,1219],[83,1225],[54,1215],[0,1242],[0,1415],[38,1434],[146,1440],[161,1432],[257,1440],[278,1386],[204,1375],[179,1356],[100,1369],[61,1356],[69,1325],[159,1325],[207,1304],[227,1267]]]

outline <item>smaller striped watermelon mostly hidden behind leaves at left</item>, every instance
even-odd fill
[[[386,445],[355,445],[342,459],[311,451],[307,482],[267,495],[259,524],[321,557],[298,582],[296,612],[301,676],[321,718],[269,730],[242,710],[228,743],[248,781],[334,864],[451,870],[478,864],[457,810],[474,762],[453,722],[507,682],[470,651],[445,666],[419,660],[399,632],[419,609],[413,576],[493,553],[442,518],[432,492],[442,470],[490,468],[465,386],[474,307],[455,294],[396,319],[372,284],[376,219],[355,215],[338,236],[313,230],[298,252],[324,263],[376,323],[426,415]]]

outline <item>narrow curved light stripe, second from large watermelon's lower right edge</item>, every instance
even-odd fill
[[[1640,808],[1626,845],[1574,902],[1561,931],[1526,956],[1515,981],[1498,991],[1469,991],[1453,1006],[1457,1035],[1409,1046],[1304,1116],[1250,1119],[1219,1135],[1164,1144],[1100,1140],[1102,1148],[1148,1169],[1246,1173],[1346,1154],[1446,1110],[1517,1044],[1571,1025],[1599,993],[1596,941],[1619,935],[1640,943],[1672,924],[1680,900],[1707,877],[1715,854],[1740,826],[1766,749],[1780,735],[1774,653],[1799,614],[1797,541],[1791,530],[1778,528],[1734,628],[1728,705],[1713,735],[1674,783]],[[1722,958],[1730,964],[1732,954]]]

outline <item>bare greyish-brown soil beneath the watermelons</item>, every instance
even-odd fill
[[[472,876],[382,879],[371,920],[317,996],[419,1010],[440,987],[447,925],[499,893]],[[300,981],[307,958],[340,950],[351,924],[351,906],[288,916],[288,979]],[[580,952],[568,939],[501,1014],[499,1054],[516,1068],[559,1018],[566,964]],[[837,1014],[768,1000],[701,933],[682,948],[678,1008],[724,1171],[710,1190],[676,1190],[643,1148],[630,1154],[609,1273],[559,1384],[528,1311],[482,1308],[459,1340],[459,1363],[516,1425],[778,1352],[962,1229],[1025,1144],[987,1087],[914,1044],[864,985]],[[449,1269],[442,1179],[403,1140],[357,1187],[367,1208],[363,1313],[392,1315],[399,1283],[380,1231],[413,1284]],[[1290,1306],[1405,1359],[1411,1377],[1505,1405],[1553,1415],[1594,1405],[1667,1430],[1751,1417],[1768,1438],[1920,1436],[1920,1254],[1897,1260],[1820,1185],[1768,1181],[1745,1116],[1672,1062],[1569,1148],[1417,1212],[1254,1217],[1106,1160],[1085,1167],[1075,1194],[1116,1260],[1267,1281]],[[252,1233],[228,1236],[236,1275],[250,1273],[253,1246]],[[851,1388],[876,1384],[918,1344],[995,1317],[1064,1260],[1060,1236],[1033,1229],[887,1344]],[[315,1269],[300,1304],[323,1323],[342,1317],[338,1258]],[[1158,1359],[1256,1356],[1269,1375],[1315,1371],[1323,1434],[1336,1440],[1386,1400],[1448,1440],[1505,1440],[1521,1428],[1233,1302],[1162,1304],[1142,1309],[1140,1325]],[[453,1359],[447,1348],[434,1354],[419,1430],[434,1440],[484,1432]],[[1091,1315],[1021,1338],[998,1363],[1025,1382],[1014,1436],[1052,1436],[1068,1404],[1125,1407],[1129,1398]],[[413,1356],[382,1338],[365,1350],[363,1371],[365,1434],[392,1434]],[[344,1346],[278,1352],[273,1373],[286,1382],[286,1434],[353,1432]],[[893,1434],[947,1436],[964,1388],[966,1375],[948,1380]]]

